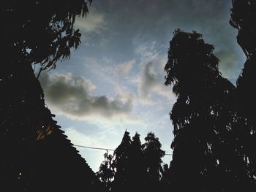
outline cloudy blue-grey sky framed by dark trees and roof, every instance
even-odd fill
[[[164,66],[173,31],[197,31],[214,45],[219,70],[234,84],[245,58],[229,25],[231,0],[94,0],[77,18],[81,44],[69,61],[43,72],[45,101],[74,145],[115,149],[124,131],[153,131],[172,153],[169,112],[176,101]],[[77,147],[94,172],[105,150]],[[171,156],[163,161],[169,164]]]

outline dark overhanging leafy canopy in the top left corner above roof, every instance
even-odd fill
[[[41,64],[48,69],[59,59],[69,58],[70,48],[80,44],[75,18],[89,12],[88,4],[91,0],[1,1],[5,62]]]

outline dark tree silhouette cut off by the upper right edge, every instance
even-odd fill
[[[231,9],[231,26],[238,29],[237,42],[244,50],[246,63],[244,69],[237,80],[238,99],[242,102],[241,110],[244,112],[249,122],[255,127],[254,109],[256,107],[255,91],[252,87],[255,85],[255,52],[256,52],[256,32],[255,32],[255,1],[233,0]],[[254,130],[255,131],[255,130]]]

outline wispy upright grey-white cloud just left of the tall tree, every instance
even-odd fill
[[[137,80],[140,101],[146,105],[154,105],[159,100],[154,96],[173,99],[172,91],[164,85],[166,56],[160,54],[164,46],[156,41],[144,41],[143,37],[135,37],[133,45],[140,58],[140,74]]]

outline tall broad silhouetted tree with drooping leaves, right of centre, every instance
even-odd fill
[[[219,73],[213,50],[195,31],[176,30],[170,42],[165,85],[177,96],[170,113],[176,191],[234,191],[250,182],[234,86]]]

